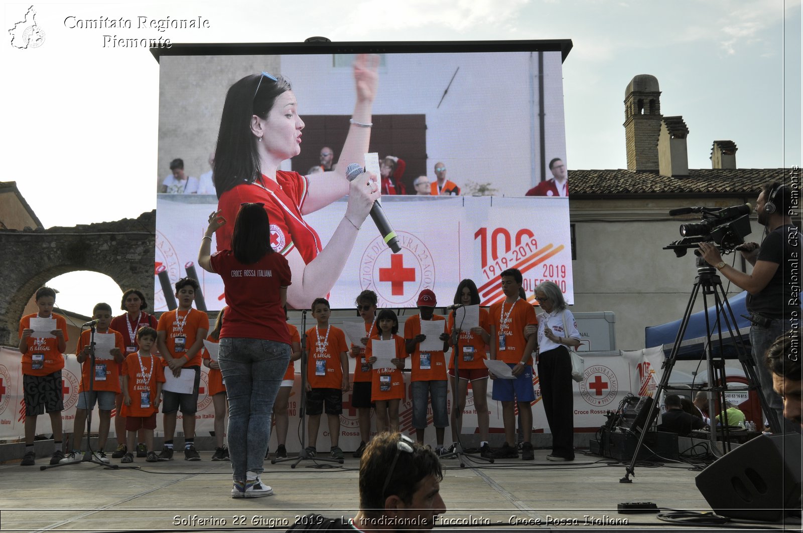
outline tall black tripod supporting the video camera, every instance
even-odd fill
[[[695,252],[696,254],[696,252]],[[647,414],[646,420],[642,427],[641,433],[638,436],[638,444],[633,453],[633,458],[630,460],[630,466],[627,467],[625,477],[620,479],[620,483],[632,483],[633,480],[630,479],[630,475],[635,476],[634,466],[636,464],[636,460],[638,458],[638,452],[641,451],[642,444],[644,442],[644,437],[647,433],[647,428],[652,425],[655,417],[658,415],[658,399],[661,397],[661,394],[669,389],[667,385],[669,384],[669,379],[672,373],[672,368],[675,367],[675,362],[677,360],[678,352],[680,350],[680,344],[683,340],[683,336],[686,333],[686,328],[689,323],[689,319],[691,319],[692,309],[695,305],[695,300],[697,299],[697,295],[700,292],[700,289],[703,290],[703,309],[707,311],[708,309],[708,299],[707,295],[714,296],[714,305],[715,305],[715,324],[711,325],[711,322],[708,318],[708,313],[705,313],[705,326],[706,326],[706,336],[705,336],[705,344],[703,345],[703,350],[705,352],[707,367],[708,367],[708,386],[703,387],[699,390],[705,390],[709,393],[714,393],[719,401],[719,406],[722,411],[722,424],[723,424],[723,437],[724,437],[724,445],[729,450],[730,442],[728,441],[728,414],[725,409],[725,392],[728,390],[728,383],[725,380],[725,368],[724,368],[724,360],[720,357],[719,359],[715,359],[712,351],[711,351],[711,336],[713,335],[714,331],[713,328],[716,328],[716,341],[717,346],[719,347],[719,354],[723,353],[724,348],[724,340],[723,340],[723,328],[721,319],[724,319],[725,326],[728,328],[728,336],[730,338],[730,342],[736,348],[736,356],[739,359],[739,362],[742,364],[742,368],[744,370],[744,376],[747,377],[748,380],[748,390],[755,390],[758,393],[759,401],[761,404],[761,410],[764,412],[764,416],[767,417],[769,424],[772,428],[780,427],[778,425],[778,419],[776,416],[775,411],[770,409],[767,400],[764,398],[764,394],[761,392],[761,385],[759,384],[758,375],[756,374],[756,367],[755,363],[752,359],[752,356],[748,354],[747,349],[744,347],[744,343],[742,342],[742,338],[738,332],[738,326],[736,325],[736,316],[733,315],[733,311],[731,309],[731,304],[728,302],[727,295],[725,294],[725,290],[722,287],[722,281],[719,279],[719,275],[716,274],[716,269],[711,267],[702,257],[697,257],[697,277],[695,278],[695,284],[691,291],[691,296],[689,297],[689,301],[686,306],[686,311],[683,313],[683,319],[680,321],[680,327],[678,329],[678,335],[675,336],[675,344],[672,346],[672,350],[669,354],[669,357],[663,361],[661,366],[663,370],[663,374],[661,376],[661,382],[658,384],[658,389],[655,390],[654,393],[654,401],[651,402],[649,412]],[[726,312],[727,311],[727,312]],[[734,332],[736,330],[736,333]],[[673,389],[674,390],[674,389]],[[685,390],[685,389],[684,389]],[[711,414],[711,424],[715,425],[715,412],[711,409],[711,400],[709,397],[709,413]],[[716,441],[716,427],[712,428],[711,430],[711,443],[715,443]]]

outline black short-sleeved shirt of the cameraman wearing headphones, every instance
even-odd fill
[[[748,311],[769,319],[788,320],[793,311],[800,314],[801,235],[797,228],[780,226],[772,230],[761,242],[756,261],[775,262],[778,270],[763,291],[748,294]]]

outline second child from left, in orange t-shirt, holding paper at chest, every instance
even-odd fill
[[[81,382],[79,384],[78,406],[75,409],[75,420],[72,426],[72,451],[59,461],[63,463],[78,462],[81,460],[81,440],[84,438],[84,425],[87,423],[87,414],[92,411],[97,401],[100,422],[98,424],[98,449],[93,454],[100,462],[108,463],[104,452],[108,429],[112,425],[112,409],[114,397],[120,392],[119,364],[123,362],[125,343],[120,332],[109,328],[112,323],[112,306],[108,303],[98,303],[92,309],[92,318],[97,320],[95,340],[100,342],[100,336],[112,336],[114,348],[107,353],[95,350],[94,364],[91,357],[90,344],[92,331],[81,333],[78,346],[75,347],[76,359],[81,363]]]

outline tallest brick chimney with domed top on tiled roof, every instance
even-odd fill
[[[661,129],[661,91],[653,75],[639,74],[625,89],[627,169],[658,170],[658,132]]]

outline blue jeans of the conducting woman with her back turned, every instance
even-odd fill
[[[232,478],[262,474],[271,412],[290,362],[290,345],[275,340],[223,338],[218,363],[229,398],[227,440]]]

